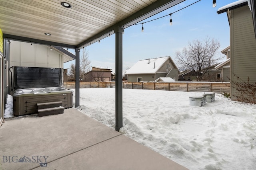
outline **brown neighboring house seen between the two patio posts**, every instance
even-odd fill
[[[111,69],[92,66],[92,70],[84,74],[83,81],[86,82],[108,82],[111,81]]]

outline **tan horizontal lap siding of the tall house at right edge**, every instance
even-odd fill
[[[256,82],[256,39],[252,22],[252,13],[248,5],[231,11],[230,22],[231,45],[231,80],[237,81],[233,72],[242,80]],[[236,94],[231,88],[231,96]]]

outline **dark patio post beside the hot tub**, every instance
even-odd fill
[[[78,50],[78,48],[76,48],[75,49],[75,51],[76,51],[76,105],[75,105],[75,107],[78,107],[79,105],[80,105],[80,100],[79,100],[79,98],[80,98],[80,92],[79,92],[79,90],[80,90],[80,78],[79,78],[79,76],[80,76],[80,53],[79,53],[79,51],[80,50]]]

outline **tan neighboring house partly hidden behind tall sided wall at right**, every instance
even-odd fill
[[[215,69],[221,70],[221,77],[223,82],[230,82],[230,46],[221,51],[226,55],[226,60],[215,66]]]

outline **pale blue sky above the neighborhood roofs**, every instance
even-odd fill
[[[140,23],[166,16],[196,1],[186,0]],[[217,6],[213,8],[212,0],[201,0],[172,14],[172,25],[169,24],[170,16],[166,16],[144,23],[144,32],[141,32],[142,24],[124,29],[123,70],[130,68],[139,60],[149,58],[170,56],[176,63],[176,51],[181,51],[188,45],[188,42],[196,39],[203,41],[208,37],[219,40],[218,52],[222,51],[230,45],[230,27],[227,14],[217,14],[217,10],[232,2],[236,2],[236,0],[217,0]],[[113,73],[115,72],[114,34],[100,40],[100,43],[96,42],[85,47],[85,49],[88,51],[91,66],[110,68]],[[71,63],[75,63],[75,61],[64,63],[64,68],[70,68]]]

